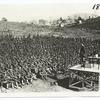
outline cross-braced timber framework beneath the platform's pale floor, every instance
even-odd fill
[[[79,72],[83,73],[83,75],[85,75],[85,77],[84,76],[81,76],[81,78],[80,78],[80,75],[82,75],[82,74],[75,73],[76,71],[79,71]],[[96,84],[99,85],[99,88],[100,88],[100,73],[88,72],[88,71],[84,72],[82,70],[73,70],[73,69],[70,70],[70,75],[71,75],[71,73],[73,75],[79,77],[79,80],[74,82],[75,77],[71,77],[70,82],[72,80],[72,83],[69,82],[69,87],[80,90],[80,87],[77,86],[80,83],[80,84],[82,84],[82,87],[81,88],[86,88],[87,90],[96,91],[97,90],[97,87],[93,85],[93,82],[94,82],[94,84],[95,85]],[[91,73],[91,75],[88,76],[87,75],[88,73]],[[99,77],[99,84],[98,84],[98,78],[97,77]],[[87,81],[90,81],[90,83],[88,83]],[[95,83],[95,81],[97,81],[97,83]],[[90,88],[88,88],[86,86],[86,84],[89,85]]]

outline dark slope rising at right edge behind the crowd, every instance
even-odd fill
[[[85,30],[89,33],[92,33],[95,37],[97,37],[100,35],[100,16],[96,18],[89,18],[87,20],[84,20],[82,24],[75,24],[71,27]]]

